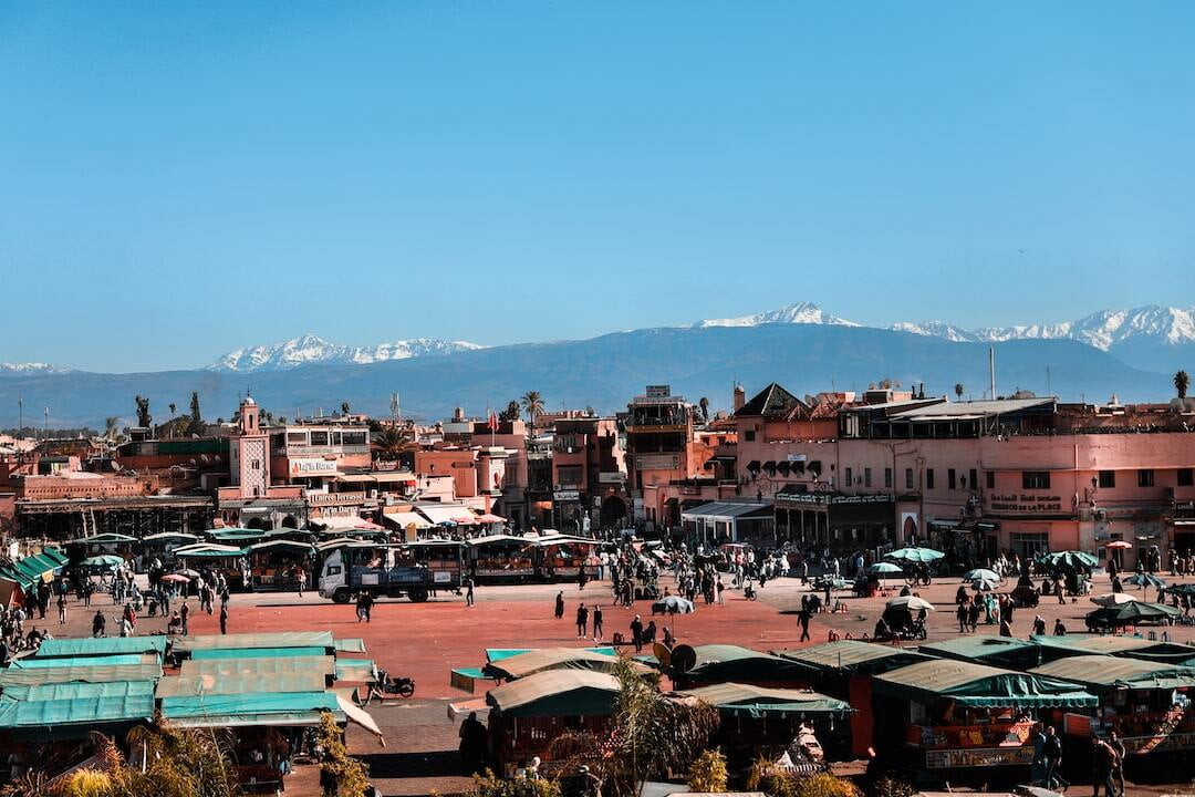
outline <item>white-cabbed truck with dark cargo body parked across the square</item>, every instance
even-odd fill
[[[460,589],[459,544],[348,541],[320,546],[319,595],[348,603],[353,595],[402,597],[419,603],[437,589]],[[421,558],[422,557],[422,558]]]

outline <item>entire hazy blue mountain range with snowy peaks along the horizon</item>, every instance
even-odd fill
[[[883,378],[952,394],[961,382],[966,397],[982,398],[989,345],[1000,394],[1022,388],[1064,400],[1105,401],[1115,393],[1123,401],[1164,401],[1172,396],[1173,372],[1195,367],[1191,319],[1193,309],[1142,307],[1055,324],[878,329],[797,304],[684,327],[494,348],[435,338],[349,347],[301,336],[245,347],[188,370],[94,374],[44,363],[0,366],[0,427],[16,424],[18,397],[38,416],[50,407],[54,425],[103,427],[109,416],[127,423],[139,393],[149,397],[160,422],[168,417],[166,405],[185,406],[191,391],[200,392],[204,415],[213,418],[231,415],[246,390],[287,417],[331,411],[344,400],[385,413],[396,391],[404,412],[424,418],[447,416],[456,405],[480,415],[528,390],[540,391],[550,407],[611,412],[658,382],[727,409],[736,380],[748,391],[776,380],[797,394],[863,390]]]

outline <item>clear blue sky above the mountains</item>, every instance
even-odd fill
[[[6,2],[0,360],[1195,304],[1190,2]]]

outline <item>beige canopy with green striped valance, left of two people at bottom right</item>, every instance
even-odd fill
[[[945,658],[877,675],[875,691],[923,704],[949,699],[969,709],[1087,709],[1099,703],[1077,683]]]

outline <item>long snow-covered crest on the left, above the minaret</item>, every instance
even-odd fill
[[[208,366],[208,370],[251,374],[266,370],[288,370],[317,363],[368,364],[386,360],[456,354],[458,351],[472,351],[482,348],[484,347],[468,341],[443,341],[440,338],[412,338],[379,343],[372,347],[349,347],[329,343],[315,335],[301,335],[282,343],[234,349]]]

